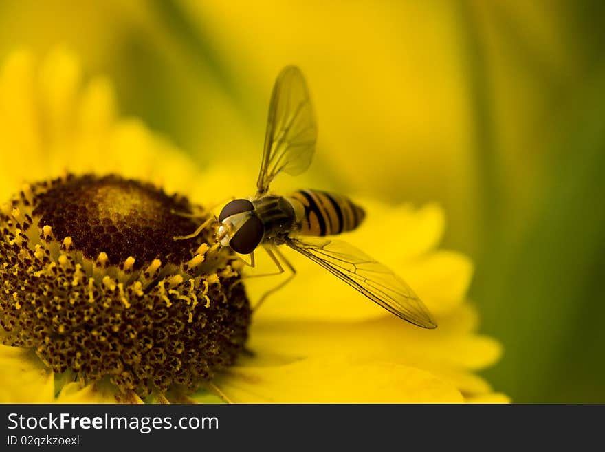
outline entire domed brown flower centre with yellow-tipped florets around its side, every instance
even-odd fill
[[[58,376],[141,397],[195,391],[232,365],[250,305],[239,263],[186,235],[184,197],[111,175],[26,186],[0,212],[0,338]],[[68,378],[69,379],[69,378]]]

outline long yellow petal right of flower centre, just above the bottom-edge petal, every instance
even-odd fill
[[[472,316],[461,308],[461,318]],[[260,356],[306,358],[324,354],[354,354],[375,360],[419,367],[479,369],[494,363],[500,344],[487,336],[470,334],[443,321],[437,330],[423,330],[395,316],[364,322],[263,321],[252,324],[249,347]]]

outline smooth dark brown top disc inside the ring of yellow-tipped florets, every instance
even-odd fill
[[[118,265],[129,256],[140,268],[160,259],[179,263],[191,259],[191,241],[174,241],[174,235],[195,230],[184,197],[169,197],[151,184],[124,180],[115,175],[69,177],[40,193],[33,214],[39,227],[52,226],[55,237],[72,237],[89,259],[107,253]]]

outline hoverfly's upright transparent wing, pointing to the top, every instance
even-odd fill
[[[317,122],[305,78],[298,67],[287,66],[273,87],[256,196],[265,194],[281,171],[298,175],[309,168],[316,140]]]

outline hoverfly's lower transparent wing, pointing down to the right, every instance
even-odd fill
[[[423,328],[437,327],[403,279],[354,246],[307,237],[304,241],[291,239],[287,243],[401,319]]]

